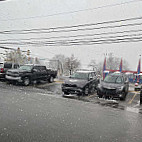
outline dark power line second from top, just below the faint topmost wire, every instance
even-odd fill
[[[73,26],[62,26],[62,27],[51,27],[51,28],[38,28],[38,29],[28,29],[28,30],[7,30],[7,31],[0,31],[0,33],[12,33],[12,32],[31,32],[31,31],[54,31],[56,29],[70,29],[70,28],[78,28],[78,27],[88,27],[88,26],[96,26],[96,25],[102,25],[102,24],[113,24],[118,22],[125,22],[125,21],[135,21],[135,20],[141,20],[142,17],[132,17],[132,18],[126,18],[126,19],[120,19],[120,20],[110,20],[110,21],[103,21],[98,23],[89,23],[89,24],[79,24],[79,25],[73,25]]]

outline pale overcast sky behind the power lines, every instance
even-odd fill
[[[142,1],[138,0],[135,0],[135,2],[132,2],[132,0],[7,0],[0,2],[0,31],[48,29],[141,16]],[[114,25],[118,26],[132,23],[142,23],[142,20],[118,22]],[[103,26],[110,25],[111,24],[105,24]],[[100,26],[102,25],[96,25],[96,27]],[[11,39],[10,41],[13,41],[12,39],[17,39],[17,42],[21,42],[21,39],[25,38],[48,38],[55,36],[68,36],[68,39],[72,40],[73,38],[70,38],[70,36],[80,34],[98,34],[140,29],[142,29],[142,25],[76,32],[0,34],[0,40]],[[137,33],[141,34],[142,32],[139,31]],[[117,35],[121,36],[121,34]],[[40,42],[40,40],[38,40],[38,42]],[[28,44],[0,44],[0,46],[12,48],[20,47],[22,50],[30,49],[34,56],[40,58],[52,58],[55,54],[64,54],[65,56],[74,54],[81,61],[83,66],[88,64],[92,59],[95,59],[96,62],[103,61],[104,53],[112,52],[114,56],[126,59],[132,70],[136,70],[139,55],[142,54],[142,42],[77,46],[30,46]],[[2,49],[0,49],[0,51],[4,52]]]

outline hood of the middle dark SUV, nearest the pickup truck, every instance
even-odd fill
[[[65,79],[65,84],[76,85],[77,87],[84,87],[87,84],[87,80],[67,78]]]

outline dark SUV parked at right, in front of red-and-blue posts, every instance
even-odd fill
[[[128,90],[128,78],[122,73],[112,73],[98,84],[97,94],[100,98],[120,98],[120,100],[125,100]]]

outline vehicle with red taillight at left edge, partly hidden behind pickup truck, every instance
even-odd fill
[[[5,79],[5,74],[8,69],[17,69],[19,68],[19,64],[16,63],[0,63],[0,79]]]

